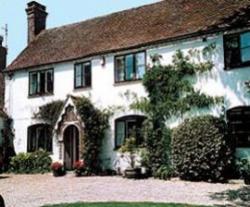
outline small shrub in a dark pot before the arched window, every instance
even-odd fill
[[[124,171],[126,178],[139,178],[141,175],[141,168],[135,166],[136,150],[136,139],[134,137],[127,138],[125,144],[120,149],[120,152],[123,153],[123,156],[126,156],[130,165]]]

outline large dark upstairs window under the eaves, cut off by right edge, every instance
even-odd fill
[[[250,32],[224,36],[225,69],[250,66]]]

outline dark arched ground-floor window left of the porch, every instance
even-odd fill
[[[28,128],[27,151],[43,149],[52,152],[52,128],[47,124],[33,125]]]

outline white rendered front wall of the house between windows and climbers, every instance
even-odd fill
[[[250,79],[250,68],[224,70],[223,37],[208,38],[206,42],[193,40],[177,42],[176,44],[162,45],[146,50],[147,61],[150,62],[150,55],[158,53],[163,56],[162,63],[171,63],[172,56],[176,50],[181,49],[187,52],[189,49],[202,49],[210,43],[216,43],[216,54],[213,57],[214,69],[202,75],[195,87],[209,95],[224,96],[226,108],[240,105],[249,105],[249,94],[244,88],[244,82]],[[92,62],[92,87],[90,89],[74,90],[74,63],[66,62],[36,69],[54,68],[54,95],[29,98],[28,97],[28,71],[16,72],[11,80],[6,78],[6,100],[5,106],[9,115],[14,119],[15,129],[15,150],[25,152],[27,150],[27,128],[36,121],[32,119],[33,113],[38,107],[53,100],[65,100],[68,94],[76,96],[88,96],[98,107],[124,106],[124,111],[118,111],[110,120],[111,131],[103,141],[102,159],[106,165],[111,166],[116,153],[114,152],[114,120],[124,115],[138,114],[136,111],[129,111],[129,100],[122,97],[126,91],[135,92],[138,96],[146,96],[145,90],[140,81],[115,84],[114,83],[114,55],[106,57],[106,64],[101,66],[101,57],[94,57]],[[88,60],[88,59],[87,59]],[[79,62],[82,60],[79,60]],[[218,114],[219,110],[212,110]],[[176,122],[177,123],[177,122]],[[172,122],[171,126],[176,123]],[[58,159],[57,141],[53,142],[53,158]]]

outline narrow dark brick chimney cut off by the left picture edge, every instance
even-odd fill
[[[0,36],[0,109],[4,105],[4,75],[3,69],[6,68],[7,50],[2,46],[3,37]]]

